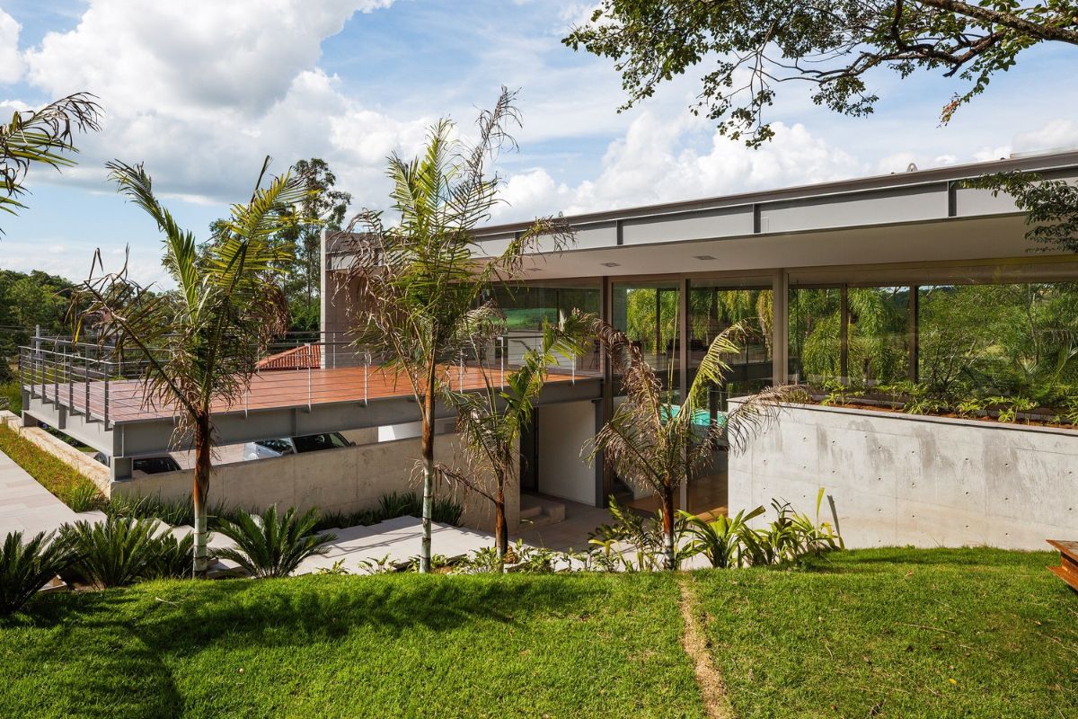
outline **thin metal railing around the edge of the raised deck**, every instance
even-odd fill
[[[454,389],[478,389],[488,383],[505,387],[508,374],[541,338],[539,334],[510,333],[471,346],[442,363],[441,377]],[[275,361],[282,357],[298,359]],[[83,416],[86,421],[101,421],[106,430],[116,421],[172,416],[171,405],[158,406],[147,396],[142,379],[148,364],[144,358],[122,357],[113,347],[68,337],[34,336],[18,355],[20,384],[30,398]],[[551,374],[573,384],[578,378],[600,376],[597,345],[594,352],[576,361],[562,359]],[[215,411],[243,411],[246,415],[282,406],[310,410],[315,404],[340,401],[367,405],[372,399],[411,393],[404,376],[385,368],[383,358],[355,347],[344,333],[295,333],[271,343],[241,398],[231,402],[222,399]]]

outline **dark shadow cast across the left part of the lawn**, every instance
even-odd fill
[[[497,636],[535,617],[594,611],[605,595],[602,579],[564,576],[157,582],[42,597],[17,624],[40,630],[37,661],[78,664],[57,677],[50,706],[68,706],[55,716],[94,707],[108,716],[177,717],[183,699],[170,667],[203,651],[299,649],[354,633],[382,644],[470,625]]]

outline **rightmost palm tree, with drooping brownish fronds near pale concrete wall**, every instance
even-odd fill
[[[717,421],[701,426],[693,421],[706,410],[708,389],[722,386],[730,371],[723,356],[740,351],[736,338],[743,324],[734,324],[711,341],[700,362],[696,377],[680,406],[673,390],[663,389],[655,371],[639,346],[624,332],[599,326],[599,342],[621,375],[625,401],[610,420],[584,445],[590,461],[600,453],[612,471],[631,485],[647,488],[662,501],[663,554],[667,569],[675,568],[674,495],[681,484],[695,476],[723,443],[742,448],[757,431],[775,419],[783,402],[792,399],[794,387],[772,387],[746,397]]]

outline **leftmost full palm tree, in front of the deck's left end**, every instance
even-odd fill
[[[127,275],[127,266],[96,275],[80,287],[84,321],[96,324],[98,342],[121,357],[144,364],[146,402],[171,407],[178,419],[174,442],[192,439],[194,471],[194,575],[205,576],[206,495],[213,446],[213,405],[234,405],[254,373],[270,340],[288,326],[288,307],[277,282],[290,259],[271,243],[294,221],[284,207],[301,202],[304,179],[289,172],[263,179],[266,157],[251,199],[234,205],[213,244],[199,257],[191,232],[182,230],[153,194],[141,165],[108,164],[119,192],[146,210],[164,235],[163,264],[177,289],[154,292]],[[100,250],[94,269],[101,266]],[[78,305],[75,305],[78,306]]]

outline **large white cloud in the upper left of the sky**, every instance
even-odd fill
[[[350,170],[334,161],[377,165],[353,174],[378,176],[386,149],[415,123],[374,113],[388,141],[357,153],[340,125],[370,111],[318,68],[321,43],[356,12],[391,2],[91,0],[73,29],[24,53],[27,81],[50,97],[100,98],[102,132],[82,141],[80,166],[65,174],[89,186],[100,188],[102,163],[119,157],[144,161],[171,196],[232,202],[249,191],[265,154],[281,155],[277,170],[323,156],[348,186]]]

